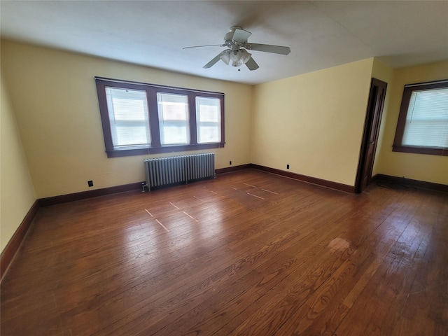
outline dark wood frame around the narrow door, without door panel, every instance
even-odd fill
[[[377,123],[374,123],[375,118],[375,107],[377,106],[377,94],[379,87],[384,89],[383,97],[381,97],[381,102],[379,102],[379,112],[377,113]],[[369,100],[367,104],[367,112],[365,113],[365,122],[364,122],[364,130],[363,130],[363,140],[361,141],[360,155],[358,161],[358,171],[356,172],[356,183],[355,183],[355,193],[363,192],[363,172],[365,170],[365,165],[367,165],[367,149],[370,145],[370,134],[374,132],[374,148],[373,148],[373,158],[371,162],[371,167],[369,168],[369,181],[367,185],[370,183],[370,179],[372,179],[372,169],[374,164],[374,157],[377,151],[378,144],[378,136],[379,136],[379,127],[381,126],[381,116],[383,114],[384,101],[386,100],[386,90],[387,83],[379,80],[377,78],[372,78],[370,82],[370,92],[369,92]],[[375,130],[372,130],[372,125],[377,125]]]

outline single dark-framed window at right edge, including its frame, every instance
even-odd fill
[[[405,85],[393,151],[448,155],[448,80]]]

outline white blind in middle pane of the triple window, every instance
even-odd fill
[[[161,145],[190,144],[188,96],[158,92]]]

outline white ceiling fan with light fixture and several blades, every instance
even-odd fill
[[[246,64],[249,70],[256,70],[259,68],[257,62],[252,58],[252,54],[247,52],[247,50],[271,52],[273,54],[288,55],[290,53],[289,47],[282,47],[281,45],[270,45],[270,44],[260,44],[260,43],[250,43],[247,41],[252,33],[250,31],[244,30],[239,26],[231,27],[230,31],[224,36],[223,44],[211,44],[211,45],[195,45],[187,48],[201,48],[201,47],[211,47],[219,45],[221,47],[228,47],[228,49],[220,52],[214,59],[203,66],[204,69],[211,68],[220,59],[225,64],[230,64],[232,66],[241,66]],[[238,69],[239,71],[239,69]]]

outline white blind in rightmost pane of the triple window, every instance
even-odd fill
[[[221,101],[217,98],[196,97],[197,143],[221,141]]]

